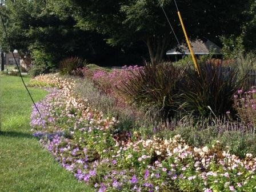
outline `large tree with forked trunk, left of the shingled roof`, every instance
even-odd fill
[[[58,0],[63,1],[63,0]],[[77,26],[106,34],[111,45],[134,41],[146,43],[152,63],[162,61],[166,50],[177,44],[170,33],[161,5],[173,24],[178,38],[183,32],[174,2],[158,0],[70,0]],[[206,37],[217,41],[219,35],[241,31],[242,11],[246,1],[177,1],[190,37]],[[238,26],[234,28],[233,26]]]

